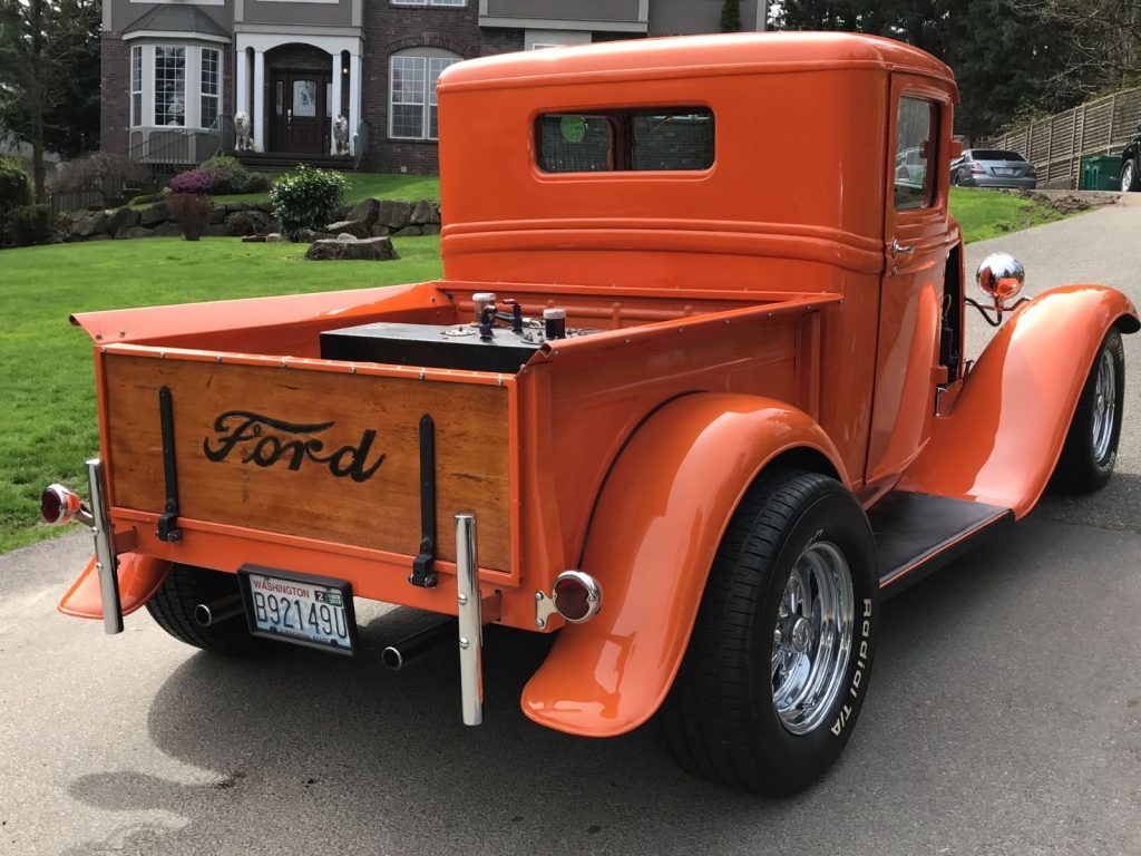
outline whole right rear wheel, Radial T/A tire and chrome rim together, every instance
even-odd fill
[[[663,710],[679,765],[774,796],[819,778],[867,693],[877,592],[856,498],[816,473],[762,474],[718,548]]]

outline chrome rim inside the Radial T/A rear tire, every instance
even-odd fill
[[[772,633],[772,703],[793,734],[816,729],[841,692],[852,623],[848,562],[834,544],[816,541],[793,565]]]

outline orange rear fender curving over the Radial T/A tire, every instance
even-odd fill
[[[654,714],[689,641],[721,535],[761,469],[811,450],[847,485],[835,446],[806,413],[768,398],[679,398],[638,430],[591,518],[582,570],[602,607],[563,629],[523,691],[523,711],[557,730],[606,737]]]

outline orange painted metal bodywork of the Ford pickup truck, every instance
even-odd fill
[[[499,623],[535,630],[535,595],[561,571],[604,587],[601,612],[563,629],[524,710],[566,732],[620,734],[669,691],[717,544],[763,467],[779,458],[828,473],[865,507],[903,486],[1022,515],[1053,468],[1098,342],[1111,324],[1135,326],[1116,292],[1050,292],[966,373],[962,348],[942,340],[945,323],[961,338],[964,313],[947,210],[957,90],[946,66],[897,42],[747,34],[534,51],[452,66],[438,92],[442,281],[76,317],[97,342],[112,519],[135,539],[121,556],[124,607],[154,591],[168,563],[324,574],[359,597],[451,614],[456,588],[446,562],[436,589],[410,586],[414,546],[366,549],[209,514],[179,518],[180,542],[160,541],[161,509],[115,503],[108,355],[259,366],[282,390],[299,371],[496,385],[510,414],[511,550],[505,567],[480,568],[484,596],[499,593]],[[909,211],[891,202],[904,97],[937,116],[932,197]],[[671,106],[715,116],[709,169],[537,165],[544,112]],[[466,323],[479,291],[516,299],[528,316],[563,307],[569,326],[597,332],[511,374],[319,356],[325,330]],[[1058,348],[1061,336],[1073,347]],[[296,401],[276,415],[321,421],[319,405]],[[382,484],[345,494],[383,507]],[[98,617],[92,580],[73,587],[65,612]],[[543,631],[560,628],[553,616]]]

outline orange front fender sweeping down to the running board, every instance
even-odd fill
[[[1052,289],[1020,308],[982,352],[952,411],[936,418],[931,442],[899,486],[1028,514],[1115,324],[1136,332],[1136,309],[1101,285]]]

